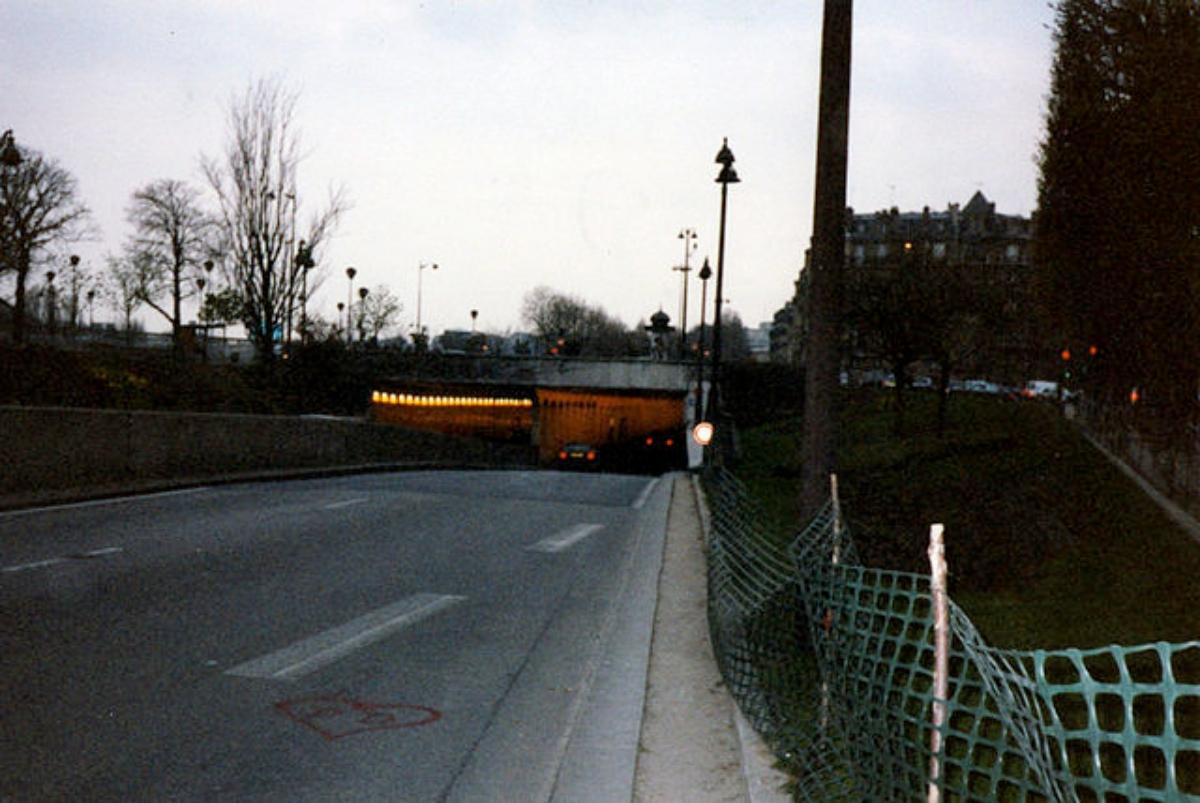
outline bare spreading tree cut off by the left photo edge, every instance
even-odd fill
[[[30,270],[50,258],[52,245],[86,236],[91,212],[78,198],[73,175],[36,151],[16,148],[19,162],[0,164],[0,274],[16,277],[12,338],[20,343]]]

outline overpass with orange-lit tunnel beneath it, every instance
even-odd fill
[[[486,361],[475,377],[380,379],[373,420],[536,447],[553,463],[568,443],[620,468],[684,465],[696,366],[661,360],[529,358]]]

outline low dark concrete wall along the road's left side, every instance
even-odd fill
[[[520,447],[358,419],[0,406],[0,493],[372,462],[532,459]]]

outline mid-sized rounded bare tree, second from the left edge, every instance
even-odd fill
[[[196,294],[204,259],[212,251],[212,220],[199,204],[200,193],[184,181],[160,179],[133,193],[126,220],[133,236],[126,253],[144,270],[140,300],[170,323],[179,348],[182,302]]]

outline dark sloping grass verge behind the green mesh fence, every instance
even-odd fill
[[[902,436],[886,392],[847,395],[838,473],[869,565],[928,571],[946,525],[950,593],[997,647],[1200,639],[1200,544],[1049,405],[956,395],[944,435],[913,394]],[[928,424],[928,425],[926,425]],[[798,420],[742,433],[737,474],[798,532]]]

